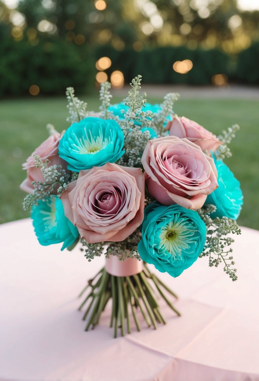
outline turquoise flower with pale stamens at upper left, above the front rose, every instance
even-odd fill
[[[123,131],[115,120],[89,117],[66,130],[58,154],[68,162],[69,170],[79,172],[115,163],[125,152],[123,144]]]

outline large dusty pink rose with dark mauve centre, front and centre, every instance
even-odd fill
[[[66,217],[86,242],[122,241],[143,220],[144,174],[141,168],[111,163],[83,170],[61,200]]]

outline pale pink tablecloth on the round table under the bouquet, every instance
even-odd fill
[[[109,309],[84,332],[77,294],[104,264],[84,253],[42,247],[30,219],[0,226],[0,380],[259,380],[259,232],[236,237],[238,281],[207,258],[177,279],[182,317],[162,306],[167,325],[112,338]],[[150,268],[153,269],[152,266]]]

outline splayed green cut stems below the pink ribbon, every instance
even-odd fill
[[[174,298],[177,298],[177,296],[155,274],[149,271],[146,264],[144,264],[144,269],[139,274],[128,277],[116,277],[108,274],[103,268],[93,279],[88,281],[87,286],[79,296],[82,296],[88,288],[90,288],[90,292],[79,307],[79,310],[81,310],[87,305],[83,315],[83,320],[87,321],[85,331],[88,331],[89,328],[94,329],[99,323],[100,316],[110,298],[112,298],[110,327],[114,327],[114,338],[118,335],[118,328],[121,329],[121,335],[125,336],[125,323],[127,332],[131,333],[130,310],[138,331],[141,328],[137,318],[137,309],[140,310],[148,327],[153,326],[157,329],[157,323],[166,324],[154,288],[168,306],[180,316],[180,312],[175,309],[164,290]]]

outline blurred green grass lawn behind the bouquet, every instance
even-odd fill
[[[82,98],[83,99],[83,98]],[[85,99],[88,110],[98,110],[98,95]],[[113,98],[114,103],[120,99]],[[161,99],[148,98],[151,103]],[[238,223],[259,229],[259,105],[251,99],[181,99],[174,107],[178,115],[196,120],[208,130],[220,134],[234,123],[240,125],[230,148],[233,157],[226,164],[241,182],[244,206]],[[64,98],[26,98],[4,100],[0,104],[0,223],[25,218],[29,211],[22,210],[25,193],[19,184],[26,176],[21,164],[47,138],[47,123],[56,130],[68,127]]]

